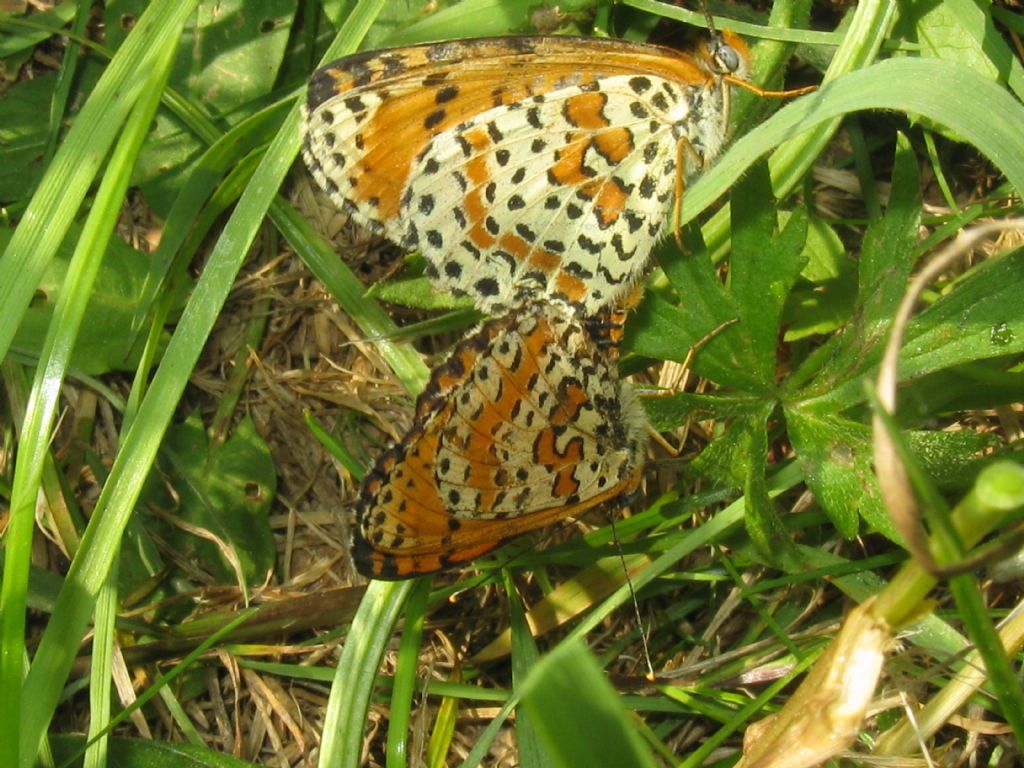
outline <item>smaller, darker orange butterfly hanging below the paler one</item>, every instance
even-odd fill
[[[364,478],[352,555],[375,579],[472,560],[634,492],[646,420],[618,376],[625,309],[558,299],[484,323],[438,366]]]

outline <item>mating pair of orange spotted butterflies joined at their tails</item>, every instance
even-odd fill
[[[644,419],[618,303],[720,151],[738,40],[695,53],[511,37],[360,53],[309,83],[332,201],[499,314],[460,343],[364,481],[353,555],[401,579],[635,489]],[[678,210],[677,210],[678,214]]]

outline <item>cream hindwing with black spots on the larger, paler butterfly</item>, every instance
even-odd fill
[[[546,294],[593,312],[642,275],[675,200],[680,142],[687,177],[718,151],[700,130],[724,133],[724,116],[721,88],[650,75],[488,110],[430,141],[401,217],[431,274],[484,310]]]

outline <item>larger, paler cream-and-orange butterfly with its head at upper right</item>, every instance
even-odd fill
[[[573,37],[357,53],[310,79],[303,157],[480,309],[549,296],[593,313],[639,280],[718,155],[748,60],[735,36],[694,53]]]

